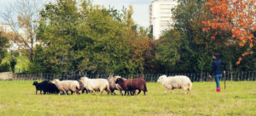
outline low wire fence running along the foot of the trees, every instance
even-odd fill
[[[144,78],[147,82],[156,82],[160,75],[187,75],[192,82],[194,81],[212,81],[214,77],[209,78],[209,73],[172,73],[172,74],[144,74],[144,75],[119,75],[126,79],[132,78]],[[89,78],[103,78],[107,79],[109,75],[67,75],[67,74],[36,74],[36,75],[22,75],[15,74],[13,80],[78,80],[82,76]],[[256,72],[247,71],[247,72],[228,72],[226,73],[221,80],[230,80],[230,81],[254,81],[256,80]]]

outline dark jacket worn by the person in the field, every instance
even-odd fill
[[[212,74],[214,74],[214,75],[221,75],[222,74],[221,65],[224,65],[224,70],[226,70],[226,64],[224,62],[222,62],[218,58],[213,59],[212,71],[211,71],[210,75],[212,75]]]

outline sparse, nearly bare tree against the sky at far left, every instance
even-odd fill
[[[17,0],[1,13],[1,17],[12,27],[15,33],[12,41],[15,41],[22,48],[22,52],[31,62],[34,45],[37,42],[38,11],[42,5],[41,0]]]

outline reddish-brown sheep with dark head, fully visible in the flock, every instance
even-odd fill
[[[146,86],[146,81],[144,79],[130,79],[130,80],[123,80],[121,78],[118,78],[115,81],[116,84],[119,84],[119,86],[121,86],[124,91],[125,91],[125,95],[126,92],[131,93],[131,96],[135,94],[136,90],[139,90],[137,95],[140,94],[141,91],[144,92],[144,95],[146,95],[146,91],[147,90],[147,86]]]

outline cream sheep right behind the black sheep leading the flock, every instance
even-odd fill
[[[53,80],[53,83],[59,91],[64,91],[67,95],[67,91],[73,91],[74,93],[79,93],[79,82],[77,80]],[[61,94],[61,92],[59,93]]]

